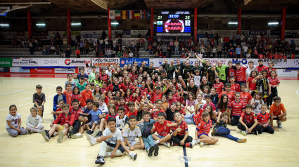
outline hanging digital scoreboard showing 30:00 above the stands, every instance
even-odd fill
[[[190,33],[190,11],[158,11],[157,33]]]

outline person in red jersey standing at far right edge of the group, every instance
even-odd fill
[[[279,86],[279,79],[276,77],[276,72],[275,71],[272,71],[271,72],[271,76],[269,76],[268,78],[268,82],[269,82],[269,98],[267,98],[267,105],[270,106],[272,105],[272,102],[273,102],[273,98],[275,96],[278,95],[278,92],[277,92],[277,86]]]

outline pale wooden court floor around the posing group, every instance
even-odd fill
[[[64,86],[66,77],[2,77],[0,81],[0,166],[97,166],[94,161],[101,144],[91,147],[86,135],[80,139],[65,137],[63,142],[58,143],[56,138],[46,142],[39,133],[13,138],[6,132],[8,106],[12,104],[18,106],[18,113],[22,116],[22,125],[25,127],[32,107],[32,93],[37,84],[41,84],[42,91],[46,93],[44,125],[49,129],[56,86]],[[273,135],[247,135],[248,142],[243,144],[220,137],[216,145],[186,148],[186,156],[191,159],[188,166],[299,166],[299,81],[281,81],[278,89],[288,113],[288,121],[282,123],[281,129],[276,128]],[[195,128],[189,126],[192,137]],[[239,130],[232,131],[231,134],[243,138]],[[159,155],[151,157],[144,150],[135,152],[138,154],[136,161],[123,155],[113,159],[106,158],[105,166],[186,166],[184,161],[179,160],[184,156],[182,147],[169,149],[161,145]]]

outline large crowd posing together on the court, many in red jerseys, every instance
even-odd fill
[[[90,145],[101,142],[95,163],[103,164],[105,157],[124,152],[136,159],[134,149],[157,156],[159,145],[212,145],[218,142],[215,136],[247,141],[230,135],[227,124],[244,136],[273,134],[274,120],[281,128],[286,109],[278,96],[280,82],[273,62],[265,66],[259,60],[257,67],[252,61],[248,67],[239,62],[224,65],[220,60],[210,64],[195,54],[198,61],[193,66],[190,56],[184,62],[165,59],[158,69],[153,62],[149,66],[133,62],[101,67],[98,72],[93,66],[90,74],[84,68],[79,74],[68,74],[64,86],[56,88],[49,130],[42,125],[43,112],[49,112],[44,108],[46,95],[37,85],[27,127],[22,128],[17,107],[11,105],[6,130],[14,137],[41,133],[46,141],[58,134],[58,142],[65,135],[82,138],[86,131]],[[195,135],[189,134],[188,124],[196,125]]]

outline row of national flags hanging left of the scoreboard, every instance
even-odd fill
[[[109,11],[110,19],[148,19],[151,18],[151,10],[140,11]]]

